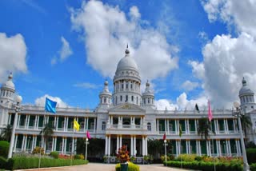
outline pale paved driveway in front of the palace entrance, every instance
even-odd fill
[[[47,169],[29,169],[29,170],[40,170],[40,171],[46,171],[46,170],[78,170],[78,171],[85,171],[85,170],[93,170],[93,171],[114,171],[114,164],[101,164],[101,163],[89,163],[88,165],[74,165],[74,166],[66,166],[66,167],[58,167],[58,168],[47,168]],[[140,171],[182,171],[186,169],[176,169],[176,168],[169,168],[164,167],[163,165],[139,165]]]

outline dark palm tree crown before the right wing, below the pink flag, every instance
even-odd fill
[[[208,140],[208,137],[210,136],[211,126],[210,121],[208,121],[208,118],[202,117],[198,120],[198,135],[201,135],[201,137],[204,137],[205,140]]]

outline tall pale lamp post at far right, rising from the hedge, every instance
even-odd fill
[[[240,130],[240,141],[241,141],[241,145],[242,145],[242,160],[243,160],[243,170],[244,171],[249,171],[250,170],[250,166],[248,165],[247,162],[247,157],[246,157],[246,147],[245,147],[245,142],[243,140],[243,133],[242,133],[242,125],[241,125],[241,117],[245,114],[238,101],[234,102],[234,107],[235,107],[235,111],[233,111],[233,115],[235,117],[238,117],[238,126],[239,126],[239,130]]]

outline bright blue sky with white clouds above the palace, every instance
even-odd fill
[[[158,109],[231,109],[256,90],[256,0],[2,0],[0,84],[25,105],[94,109],[126,45]]]

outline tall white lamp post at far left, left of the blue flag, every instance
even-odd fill
[[[17,126],[18,122],[18,113],[22,110],[22,106],[20,103],[22,102],[22,97],[17,95],[15,97],[16,104],[12,105],[12,109],[15,110],[15,117],[14,117],[14,125],[13,125],[13,130],[11,131],[11,137],[10,137],[10,148],[8,152],[8,158],[12,157],[13,149],[14,149],[14,136],[15,136],[15,129]]]

